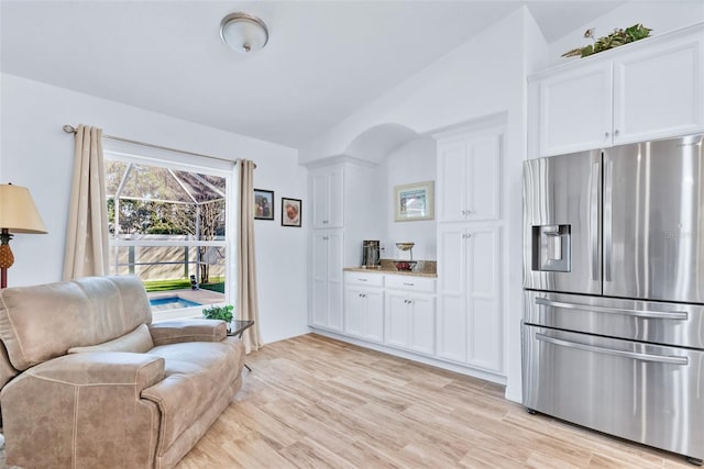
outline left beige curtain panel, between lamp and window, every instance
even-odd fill
[[[75,135],[64,280],[108,273],[108,209],[102,130],[79,125]]]

